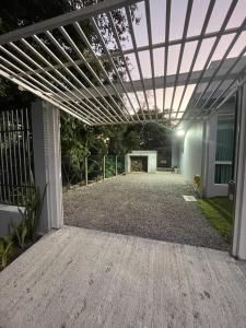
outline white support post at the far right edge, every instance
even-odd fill
[[[246,85],[237,95],[235,221],[232,255],[246,260]]]

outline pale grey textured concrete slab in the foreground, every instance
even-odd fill
[[[5,268],[0,300],[4,328],[246,327],[246,279],[227,253],[78,227]]]

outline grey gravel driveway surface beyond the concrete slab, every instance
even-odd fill
[[[180,175],[136,173],[63,195],[67,225],[227,250]]]

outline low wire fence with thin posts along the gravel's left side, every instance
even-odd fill
[[[94,155],[84,159],[85,184],[122,174],[125,172],[125,156]]]

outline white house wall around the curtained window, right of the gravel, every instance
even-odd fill
[[[218,117],[231,116],[233,119],[235,103],[226,103],[220,110],[211,114],[203,121],[183,126],[186,130],[185,137],[179,138],[179,167],[180,173],[192,183],[195,175],[200,175],[201,186],[199,194],[202,197],[227,196],[227,184],[215,184],[215,153]],[[176,142],[173,142],[173,163],[176,159]]]

